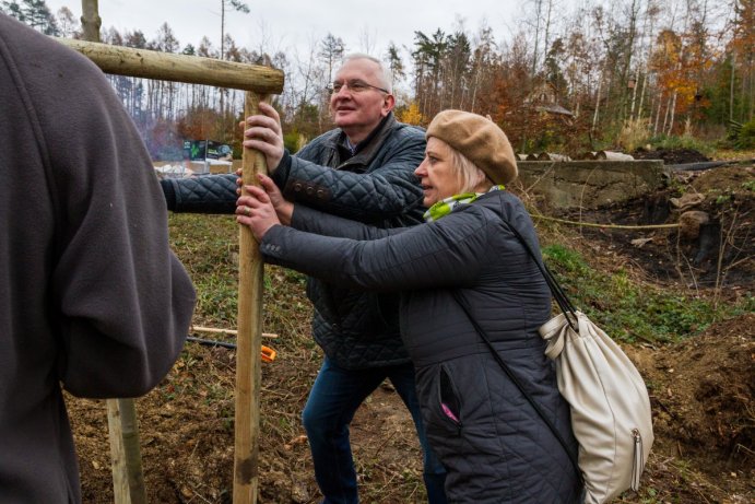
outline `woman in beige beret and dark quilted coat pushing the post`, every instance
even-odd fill
[[[528,212],[504,187],[517,175],[511,146],[494,122],[460,110],[438,114],[426,137],[415,171],[425,224],[381,230],[327,215],[284,200],[266,176],[264,190],[246,186],[237,221],[270,263],[344,288],[401,292],[401,333],[449,502],[577,502],[569,409],[538,333],[551,294],[510,231],[540,254]],[[570,453],[502,371],[455,292]]]

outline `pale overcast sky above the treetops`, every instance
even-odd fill
[[[483,22],[496,40],[515,31],[524,1],[514,0],[246,0],[250,13],[226,11],[226,32],[237,45],[267,52],[284,51],[308,59],[308,49],[329,32],[341,37],[346,51],[384,56],[390,42],[412,46],[414,32],[450,33],[462,20],[475,34]],[[207,35],[220,48],[221,0],[99,0],[103,28],[141,30],[152,39],[167,22],[181,48],[197,46]],[[80,0],[47,0],[52,13],[68,7],[81,16]],[[402,56],[406,56],[402,51]]]

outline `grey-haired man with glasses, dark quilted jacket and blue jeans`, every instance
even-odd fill
[[[393,117],[396,101],[381,62],[351,55],[328,89],[338,128],[294,155],[284,150],[280,117],[273,107],[260,103],[260,114],[245,121],[245,146],[264,154],[271,177],[297,203],[292,220],[306,214],[309,207],[382,227],[423,222],[423,192],[413,172],[424,159],[424,131]],[[233,213],[236,180],[229,183],[232,192],[229,179],[163,180],[168,209]],[[225,194],[219,194],[221,180]],[[303,422],[323,503],[358,502],[349,424],[385,378],[391,380],[416,425],[428,501],[445,503],[445,470],[427,445],[414,370],[399,333],[398,294],[338,289],[308,279],[307,295],[315,306],[312,335],[325,361]]]

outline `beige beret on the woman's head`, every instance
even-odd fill
[[[477,114],[462,110],[438,113],[427,127],[425,137],[435,137],[461,152],[494,184],[508,184],[517,178],[517,162],[506,133],[498,125]]]

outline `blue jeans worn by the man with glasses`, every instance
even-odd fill
[[[309,392],[302,419],[315,462],[315,478],[325,495],[323,504],[356,504],[356,471],[349,442],[349,424],[362,401],[385,378],[389,378],[414,419],[424,453],[423,478],[430,504],[445,504],[446,470],[433,455],[414,388],[412,364],[344,370],[325,359]]]

